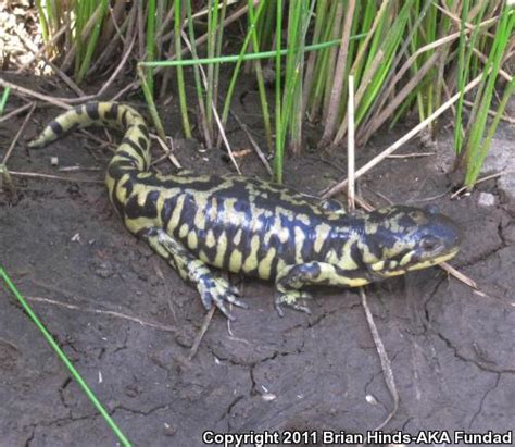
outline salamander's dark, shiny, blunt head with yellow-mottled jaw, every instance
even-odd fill
[[[365,218],[364,231],[363,260],[385,277],[447,261],[460,249],[457,225],[435,207],[378,209]]]

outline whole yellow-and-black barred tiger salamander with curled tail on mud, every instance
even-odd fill
[[[356,287],[447,261],[460,231],[435,209],[392,206],[346,213],[285,186],[237,175],[163,175],[150,170],[149,132],[133,108],[88,103],[51,121],[29,146],[42,147],[90,124],[125,131],[109,163],[109,198],[129,232],[147,240],[205,309],[247,307],[214,266],[275,282],[276,307],[307,311],[306,285]]]

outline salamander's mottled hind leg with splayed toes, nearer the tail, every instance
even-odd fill
[[[239,293],[235,286],[212,272],[204,262],[197,259],[163,229],[152,228],[147,233],[146,239],[158,254],[168,261],[183,280],[189,281],[197,287],[206,310],[210,310],[214,303],[225,316],[234,320],[226,303],[248,308],[244,302],[236,298]]]

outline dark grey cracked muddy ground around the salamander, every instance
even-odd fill
[[[41,82],[14,80],[48,91]],[[255,100],[254,92],[242,97],[236,112],[263,144]],[[129,101],[141,105],[138,98]],[[10,108],[18,104],[13,98]],[[161,111],[168,133],[180,137],[177,109]],[[352,290],[317,290],[312,315],[287,311],[281,319],[269,284],[234,278],[250,309],[235,309],[230,327],[216,312],[189,361],[205,312],[197,293],[126,232],[112,210],[101,183],[111,152],[80,134],[27,150],[28,138],[55,113],[36,110],[10,170],[98,183],[15,177],[17,204],[0,195],[0,262],[134,445],[200,446],[206,430],[363,433],[386,418],[392,399]],[[23,119],[2,124],[0,157]],[[403,132],[377,135],[360,150],[356,164]],[[311,148],[316,127],[306,126],[304,134],[304,157],[287,160],[286,183],[317,194],[344,175],[346,162],[341,154],[329,158]],[[235,150],[249,147],[235,124],[228,136]],[[515,131],[503,126],[492,150],[513,149],[514,138]],[[414,140],[399,153],[448,151],[451,139],[443,131],[434,148]],[[180,138],[175,146],[185,167],[230,171],[216,150],[199,150],[198,142]],[[60,172],[51,157],[59,157],[60,167],[98,171]],[[482,293],[438,268],[366,288],[400,395],[385,430],[504,433],[515,426],[515,208],[499,195],[495,179],[479,188],[494,196],[494,206],[478,206],[479,191],[451,200],[444,159],[390,159],[360,182],[374,206],[385,198],[435,203],[457,221],[464,241],[452,264]],[[266,176],[254,154],[240,163],[243,173]],[[167,161],[160,169],[172,171]],[[116,445],[5,288],[0,309],[0,445]]]

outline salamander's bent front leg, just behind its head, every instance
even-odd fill
[[[311,313],[307,306],[299,302],[299,300],[313,298],[311,294],[302,291],[302,287],[311,284],[356,287],[367,283],[369,283],[368,277],[356,277],[355,272],[347,272],[325,262],[314,261],[288,265],[279,272],[276,278],[275,307],[280,316],[284,315],[282,306]]]

